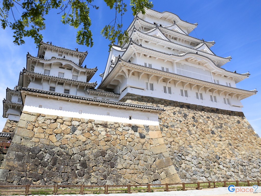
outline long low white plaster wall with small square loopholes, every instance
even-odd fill
[[[39,105],[42,108],[39,108]],[[60,110],[62,107],[62,110]],[[24,111],[51,114],[57,116],[67,116],[75,118],[95,119],[131,124],[159,125],[158,114],[156,112],[142,112],[141,110],[121,109],[116,107],[89,105],[88,103],[79,103],[75,101],[66,101],[60,99],[47,99],[46,97],[27,95]],[[79,114],[79,111],[82,111]],[[109,113],[109,115],[107,115]],[[132,116],[132,120],[129,120]],[[147,119],[149,118],[149,119]]]

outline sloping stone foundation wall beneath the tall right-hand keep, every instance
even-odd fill
[[[242,112],[137,96],[163,107],[159,125],[183,182],[261,179],[261,139]]]

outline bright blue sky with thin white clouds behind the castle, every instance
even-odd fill
[[[88,55],[83,63],[87,67],[98,67],[97,73],[90,82],[99,84],[108,58],[108,44],[102,35],[101,29],[114,19],[114,11],[109,10],[102,0],[94,1],[100,8],[90,8],[92,19],[91,30],[93,33],[94,46],[87,48],[76,44],[77,30],[73,27],[63,25],[58,10],[52,11],[46,18],[46,30],[43,31],[44,42],[52,42],[54,45],[70,49],[78,48],[79,51],[88,50]],[[125,0],[128,3],[128,0]],[[153,1],[153,9],[157,11],[170,11],[177,14],[182,20],[198,22],[191,36],[205,41],[215,40],[216,44],[211,50],[218,56],[232,56],[231,62],[222,66],[229,71],[238,73],[250,72],[250,77],[239,82],[238,88],[261,91],[261,69],[260,69],[260,43],[261,43],[261,14],[260,1]],[[123,28],[127,28],[133,15],[131,9],[123,17]],[[15,46],[13,44],[13,32],[9,29],[0,30],[0,99],[5,98],[5,89],[13,89],[18,83],[19,72],[26,67],[27,51],[36,56],[38,49],[33,39],[26,38],[26,44]],[[261,136],[261,101],[260,93],[242,100],[242,109],[246,118],[255,131]],[[2,111],[2,105],[0,110]],[[0,130],[2,130],[6,119],[0,118]]]

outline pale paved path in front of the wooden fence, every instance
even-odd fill
[[[234,187],[240,188],[240,187]],[[242,188],[253,188],[253,187],[241,187]],[[228,187],[219,187],[219,188],[204,188],[201,190],[187,190],[187,191],[169,191],[169,192],[153,192],[153,193],[110,193],[110,194],[66,194],[58,196],[245,196],[245,195],[261,195],[261,187],[258,187],[256,190],[257,193],[246,193],[246,192],[229,192]],[[38,195],[34,195],[38,196]],[[40,195],[39,195],[40,196]],[[47,196],[57,196],[57,195],[47,195]]]

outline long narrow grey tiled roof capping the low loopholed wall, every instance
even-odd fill
[[[89,98],[89,97],[84,97],[84,96],[79,96],[79,95],[56,93],[56,92],[52,92],[52,91],[46,91],[46,90],[40,90],[40,89],[34,89],[34,88],[22,87],[20,90],[24,90],[27,92],[33,92],[33,93],[41,93],[41,94],[46,94],[46,95],[67,97],[67,98],[72,98],[72,99],[93,101],[93,102],[98,102],[98,103],[107,103],[107,104],[113,104],[113,105],[119,105],[119,106],[129,106],[129,107],[136,107],[136,108],[152,109],[155,111],[164,111],[163,108],[154,107],[154,106],[139,105],[139,104],[133,104],[133,103],[124,103],[124,102],[119,102],[119,101],[109,101],[109,100]]]

